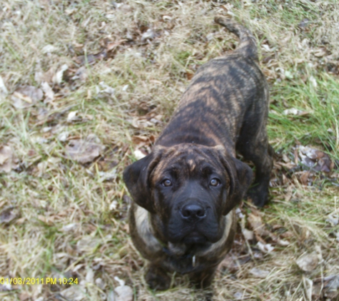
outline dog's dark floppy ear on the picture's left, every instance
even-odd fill
[[[161,148],[155,148],[152,153],[123,170],[123,181],[134,202],[151,213],[155,211],[151,200],[150,176],[161,158],[161,153]]]

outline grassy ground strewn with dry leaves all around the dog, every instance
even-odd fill
[[[201,298],[178,275],[148,290],[121,174],[150,151],[197,68],[236,47],[216,14],[258,39],[275,167],[270,204],[238,209],[214,300],[339,300],[335,0],[2,0],[1,300],[112,301],[121,280],[134,300]],[[18,277],[79,284],[6,284]]]

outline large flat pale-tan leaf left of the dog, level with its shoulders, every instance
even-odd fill
[[[96,136],[88,135],[85,140],[72,140],[66,146],[66,158],[81,164],[92,162],[103,153],[104,146]]]

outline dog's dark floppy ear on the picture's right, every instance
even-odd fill
[[[241,202],[246,194],[248,187],[251,185],[253,178],[253,171],[251,168],[228,155],[224,148],[218,147],[219,155],[223,166],[226,168],[228,176],[230,178],[230,188],[228,192],[228,198],[226,205],[223,208],[223,215],[227,215],[238,203]]]

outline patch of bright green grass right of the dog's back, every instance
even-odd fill
[[[316,88],[300,79],[291,81],[288,86],[277,85],[273,88],[270,138],[279,141],[275,148],[293,146],[295,139],[303,145],[316,144],[318,139],[328,144],[328,148],[333,150],[333,158],[338,160],[338,141],[333,136],[338,131],[338,81],[326,73],[320,73],[316,82]],[[286,117],[283,113],[286,105],[308,114]]]

